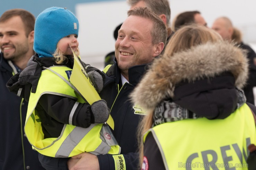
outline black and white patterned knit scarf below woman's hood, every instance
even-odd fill
[[[243,106],[246,101],[245,94],[243,90],[236,88],[238,94],[237,109]],[[182,108],[178,104],[171,102],[170,100],[162,101],[155,109],[153,116],[152,127],[162,124],[165,122],[174,122],[183,119],[197,119],[195,113],[189,111],[188,109]]]

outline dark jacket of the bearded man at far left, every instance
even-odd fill
[[[41,170],[44,168],[38,161],[37,152],[32,150],[24,136],[28,103],[10,93],[6,87],[7,81],[13,76],[12,72],[13,69],[0,53],[0,169],[22,170],[25,166],[31,170]]]

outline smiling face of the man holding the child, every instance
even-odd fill
[[[129,13],[128,13],[129,14]],[[128,69],[132,66],[153,61],[164,48],[164,43],[153,42],[151,33],[153,22],[150,19],[131,15],[122,24],[115,43],[115,54],[122,76],[128,81]]]

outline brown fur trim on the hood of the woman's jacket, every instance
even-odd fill
[[[140,107],[154,109],[174,97],[175,86],[182,80],[193,82],[226,71],[234,75],[235,86],[243,88],[248,78],[245,51],[228,42],[209,42],[156,59],[130,97]]]

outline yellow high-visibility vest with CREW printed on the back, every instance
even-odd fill
[[[247,146],[256,144],[255,122],[247,104],[226,119],[199,118],[159,124],[145,133],[144,142],[149,132],[166,170],[248,169]]]

